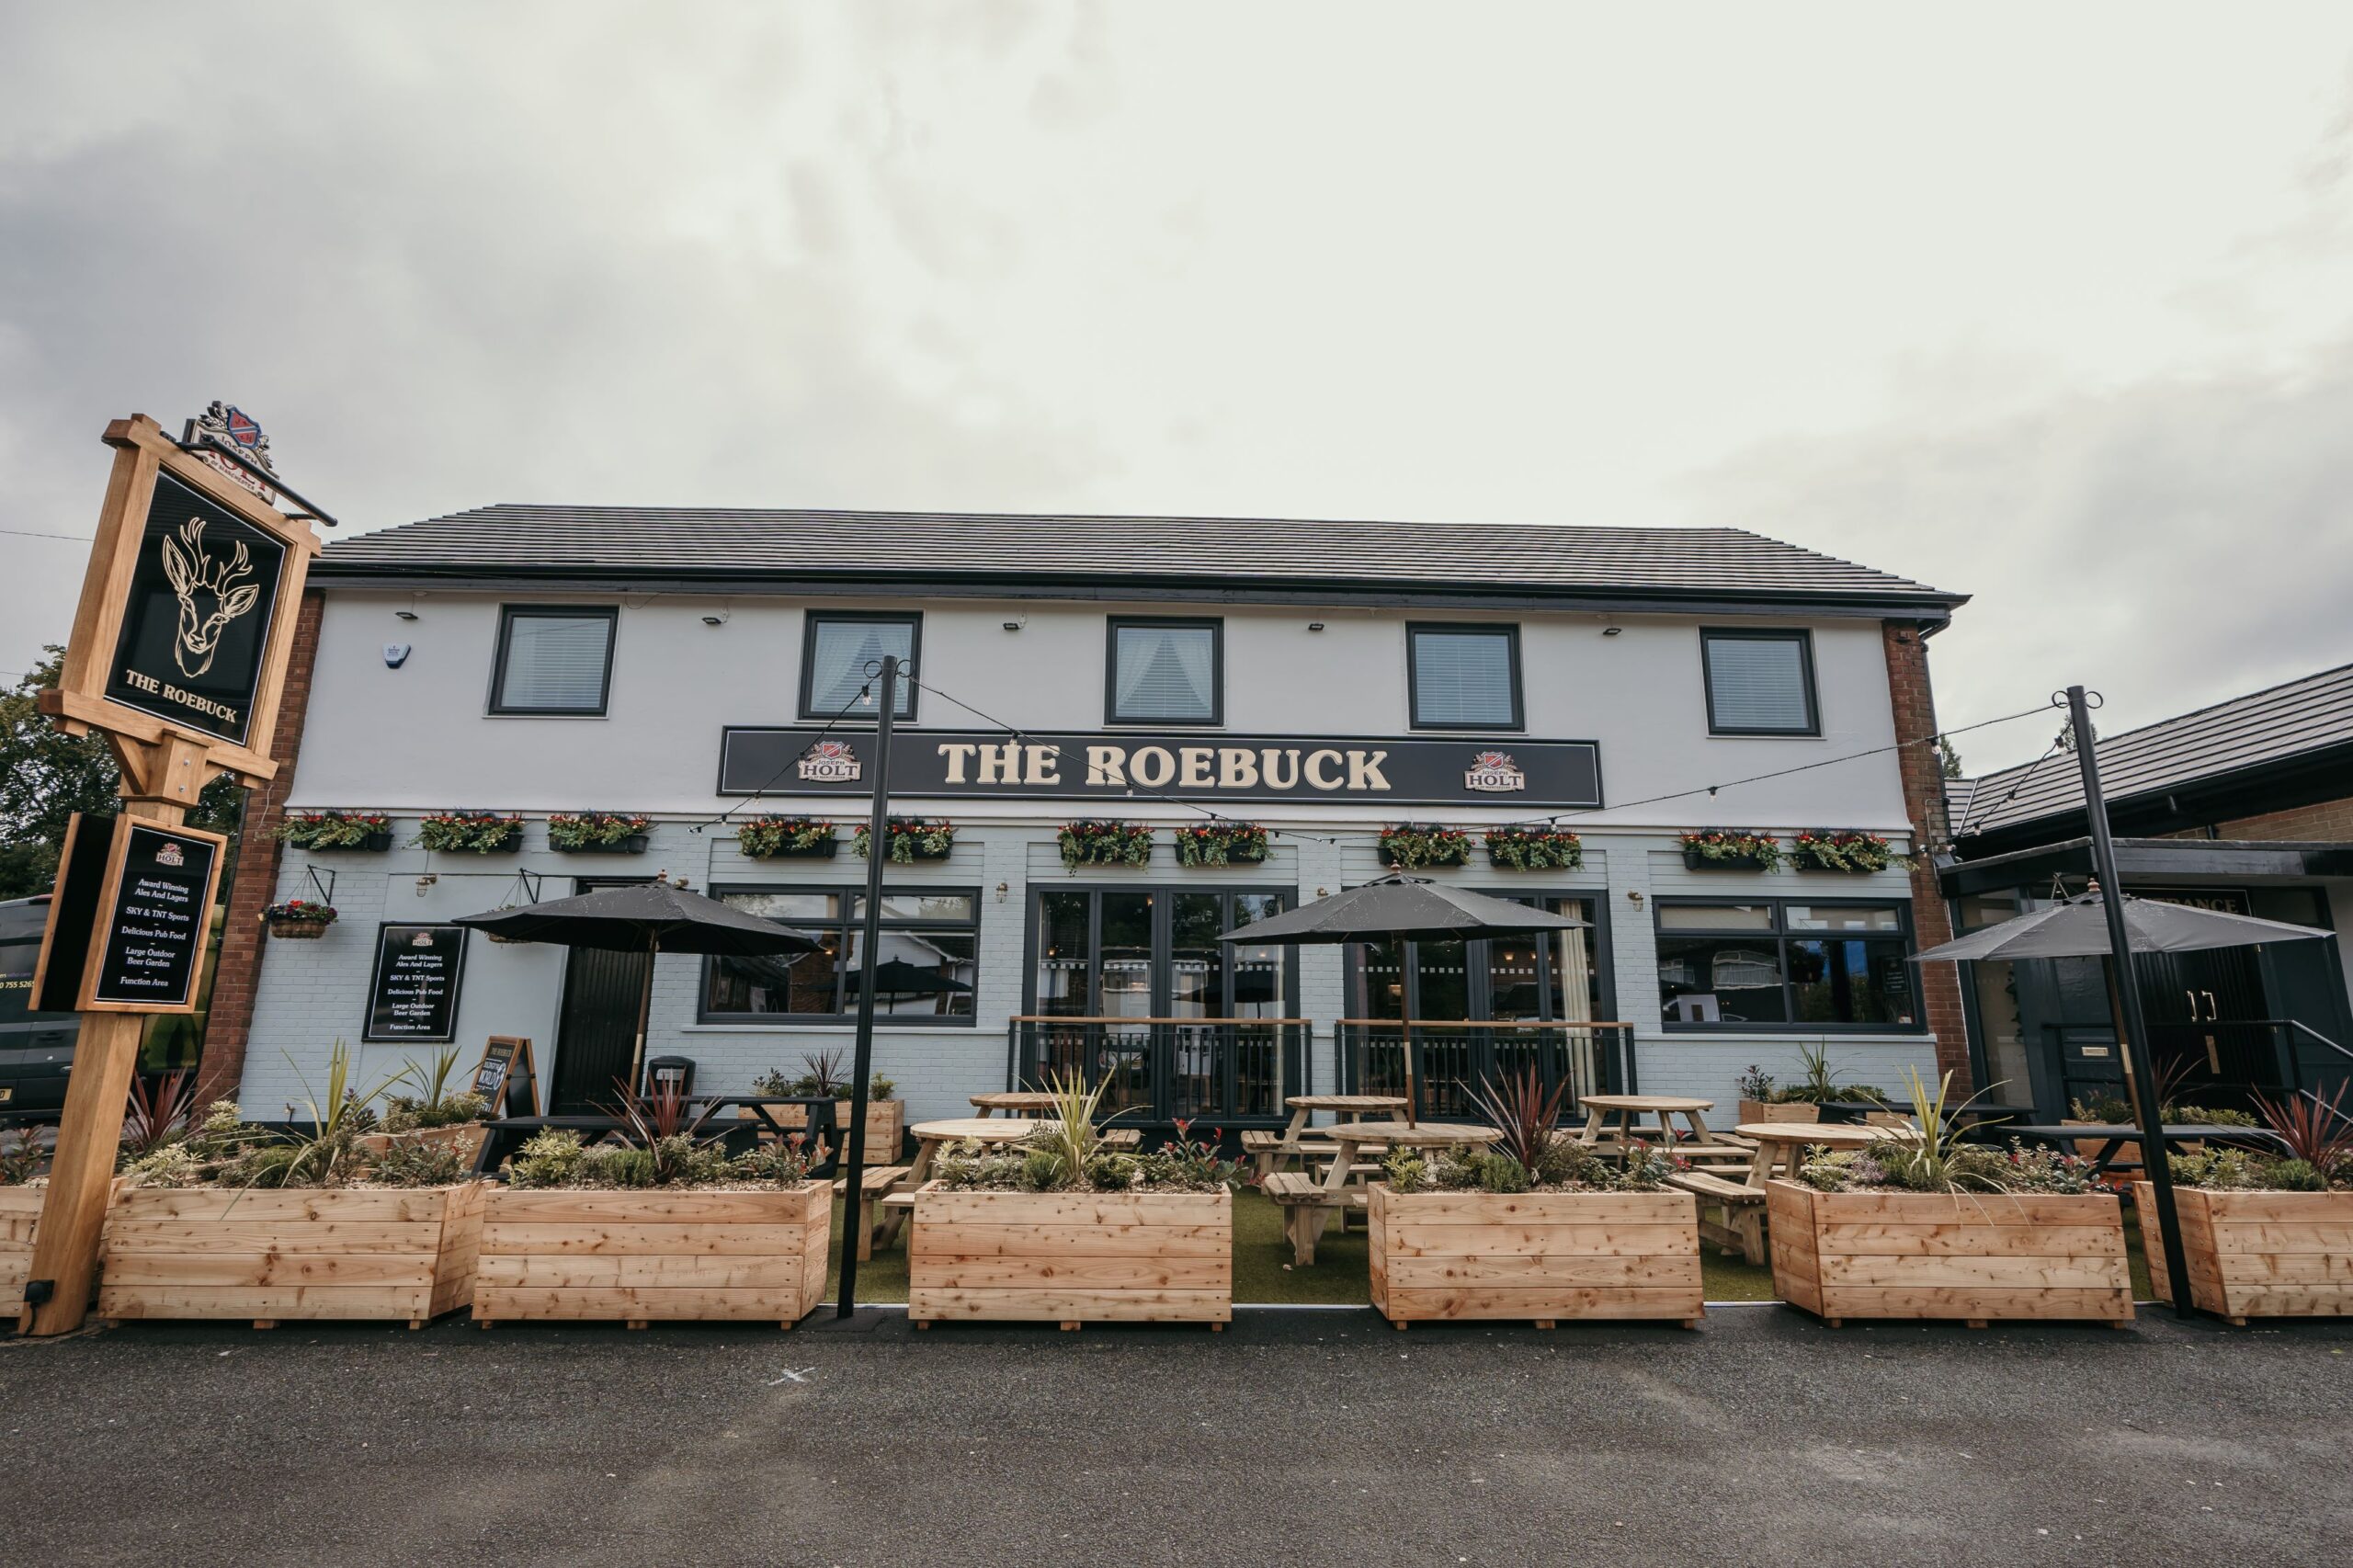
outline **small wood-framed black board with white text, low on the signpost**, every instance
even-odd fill
[[[193,1008],[221,869],[219,836],[118,819],[113,862],[85,1003],[139,1012]]]

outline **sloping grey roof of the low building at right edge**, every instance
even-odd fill
[[[2353,664],[2106,735],[2097,744],[2099,786],[2111,805],[2353,744]],[[1948,803],[1955,836],[1991,833],[2080,812],[2082,779],[2073,756],[2054,753],[2040,768],[2021,763],[1967,779],[1948,791]]]

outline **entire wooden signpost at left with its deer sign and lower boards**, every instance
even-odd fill
[[[61,994],[71,984],[82,1026],[33,1234],[19,1323],[33,1335],[82,1326],[146,1019],[195,1005],[226,841],[181,822],[214,775],[245,784],[278,775],[268,746],[318,534],[247,478],[268,461],[252,419],[214,405],[205,426],[214,450],[252,457],[214,459],[205,443],[181,445],[146,414],[106,426],[115,450],[106,506],[64,673],[40,695],[40,711],[64,732],[106,735],[122,765],[122,815],[108,826],[94,902],[89,852],[59,859],[42,935],[40,986]],[[80,819],[75,838],[92,822],[104,819]],[[68,888],[75,859],[82,881]],[[186,909],[198,897],[193,859],[209,864],[202,904]],[[68,906],[92,925],[66,930]]]

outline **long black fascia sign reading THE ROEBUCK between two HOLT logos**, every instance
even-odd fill
[[[861,796],[871,735],[798,727],[720,732],[722,796]],[[1602,803],[1600,746],[1560,739],[1358,739],[1304,735],[1028,735],[899,730],[896,796],[1061,800],[1351,800],[1391,805]]]

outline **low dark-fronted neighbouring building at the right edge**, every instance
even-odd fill
[[[2353,911],[2353,664],[2101,737],[2125,892],[2334,942],[2137,954],[2151,1059],[2181,1104],[2337,1095],[2353,1074],[2344,913]],[[2089,822],[2073,756],[1960,784],[1941,883],[1962,930],[2082,892]],[[2122,1097],[2106,977],[2092,958],[1960,965],[1969,1055],[1995,1097],[2054,1121]],[[2353,1107],[2353,1097],[2348,1097]]]

